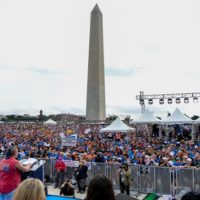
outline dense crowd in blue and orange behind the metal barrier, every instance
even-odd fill
[[[180,128],[150,137],[131,133],[99,133],[102,125],[73,124],[44,126],[42,124],[0,125],[0,155],[11,146],[18,148],[18,159],[27,157],[87,162],[128,163],[163,167],[200,167],[200,142],[180,137]],[[60,133],[77,134],[74,147],[63,147]],[[189,138],[189,139],[188,139]]]

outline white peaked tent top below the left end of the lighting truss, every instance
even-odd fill
[[[161,121],[147,109],[137,120],[132,120],[130,124],[159,124],[160,122]]]

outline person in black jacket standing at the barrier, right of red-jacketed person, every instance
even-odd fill
[[[87,176],[88,176],[87,171],[88,171],[88,167],[86,165],[85,160],[81,160],[79,167],[77,168],[77,171],[76,171],[76,181],[77,181],[79,193],[85,192],[86,179],[87,179]]]

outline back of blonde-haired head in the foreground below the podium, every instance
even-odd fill
[[[39,179],[29,178],[17,187],[13,200],[45,200],[44,185]]]

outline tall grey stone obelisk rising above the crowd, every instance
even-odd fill
[[[103,20],[96,4],[90,18],[86,120],[105,120]]]

